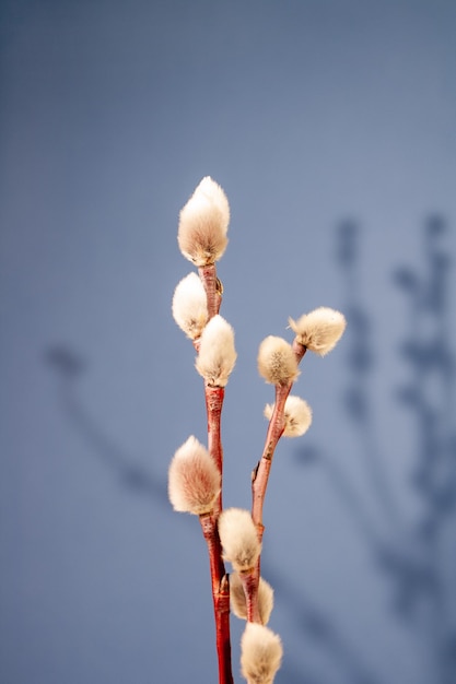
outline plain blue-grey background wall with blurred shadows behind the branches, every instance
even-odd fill
[[[171,299],[211,175],[226,506],[262,450],[259,342],[349,321],[272,468],[277,682],[455,682],[456,3],[4,0],[0,30],[0,681],[215,681],[204,544],[166,496],[204,439]]]

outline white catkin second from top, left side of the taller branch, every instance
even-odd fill
[[[208,322],[208,298],[201,279],[189,273],[177,284],[173,296],[173,318],[190,340],[201,334]]]

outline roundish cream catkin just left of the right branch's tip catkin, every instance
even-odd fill
[[[266,338],[258,350],[258,372],[271,385],[293,382],[300,372],[291,344],[274,335]]]

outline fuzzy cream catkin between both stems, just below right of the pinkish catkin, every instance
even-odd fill
[[[261,544],[248,510],[226,508],[219,518],[219,534],[223,557],[235,570],[255,567],[261,553]]]

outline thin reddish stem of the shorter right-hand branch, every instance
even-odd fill
[[[306,352],[306,347],[293,341],[293,352],[297,363],[300,363]],[[284,409],[285,401],[290,394],[293,382],[288,385],[276,385],[276,402],[266,434],[265,448],[257,467],[252,473],[252,518],[257,528],[258,540],[262,541],[265,526],[262,523],[262,507],[265,503],[266,490],[268,487],[269,473],[272,465],[272,458],[279,439],[285,428]],[[247,601],[247,620],[249,622],[261,622],[258,609],[258,586],[261,574],[260,557],[253,568],[248,581],[244,579],[243,587]],[[243,578],[242,578],[243,579]]]

